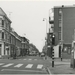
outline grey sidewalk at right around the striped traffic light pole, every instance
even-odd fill
[[[51,58],[48,57],[50,62]],[[48,67],[51,74],[75,74],[75,69],[70,67],[70,59],[55,59],[54,68],[52,66]]]

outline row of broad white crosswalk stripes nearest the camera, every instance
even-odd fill
[[[3,68],[7,68],[7,67],[13,67],[13,68],[20,68],[20,67],[24,67],[24,68],[36,68],[36,69],[42,69],[43,68],[43,64],[22,64],[22,63],[17,63],[17,64],[14,64],[14,63],[0,63],[0,67],[3,67]],[[36,66],[36,67],[35,67]]]

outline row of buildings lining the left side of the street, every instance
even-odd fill
[[[11,28],[11,20],[6,13],[0,8],[0,57],[16,54],[26,55],[29,50],[29,40],[18,35]]]

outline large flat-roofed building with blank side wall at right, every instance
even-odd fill
[[[56,36],[55,44],[56,46],[62,44],[63,58],[70,58],[75,29],[75,6],[55,6],[53,24],[52,29]],[[59,56],[60,53],[61,51],[58,51]]]

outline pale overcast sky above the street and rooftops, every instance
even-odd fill
[[[20,36],[27,37],[39,51],[42,51],[45,44],[46,32],[49,28],[49,13],[52,14],[51,8],[73,4],[75,1],[72,0],[0,0],[0,7],[12,21],[11,27]]]

